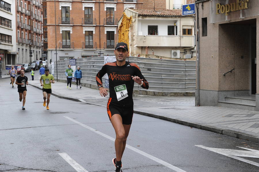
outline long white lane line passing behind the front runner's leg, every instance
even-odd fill
[[[85,125],[85,124],[83,124],[81,122],[78,122],[78,121],[76,121],[76,120],[74,120],[74,119],[72,119],[70,117],[67,117],[67,116],[64,116],[64,117],[69,119],[69,120],[71,120],[71,121],[73,121],[74,123],[77,123],[77,124],[87,128],[87,129],[89,129],[89,130],[91,130],[91,131],[93,131],[93,132],[95,132],[95,133],[97,133],[97,134],[99,134],[99,135],[109,139],[109,140],[112,140],[113,142],[115,141],[115,138],[112,138],[112,137],[110,137],[110,136],[108,136],[106,134],[103,134],[102,132],[99,132],[99,131],[97,131],[97,130],[95,130],[95,129],[93,129],[93,128],[91,128],[91,127],[89,127],[89,126],[87,126],[87,125]],[[161,159],[156,158],[155,156],[152,156],[150,154],[147,154],[146,152],[143,152],[143,151],[138,150],[138,149],[136,149],[136,148],[134,148],[132,146],[129,146],[128,144],[126,144],[126,148],[129,148],[130,150],[133,150],[134,152],[137,152],[137,153],[139,153],[139,154],[141,154],[143,156],[146,156],[147,158],[152,159],[153,161],[156,161],[157,163],[162,164],[165,167],[168,167],[168,168],[170,168],[170,169],[172,169],[172,170],[174,170],[176,172],[186,172],[186,171],[184,171],[182,169],[179,169],[178,167],[175,167],[174,165],[171,165],[171,164],[169,164],[169,163],[167,163],[167,162],[165,162],[165,161],[163,161]]]

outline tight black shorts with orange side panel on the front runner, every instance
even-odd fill
[[[130,125],[133,117],[133,104],[122,105],[113,103],[112,98],[110,97],[107,103],[107,113],[110,120],[114,114],[119,114],[121,115],[122,123]]]

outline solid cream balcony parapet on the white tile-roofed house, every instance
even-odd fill
[[[138,47],[193,47],[193,36],[137,36]]]

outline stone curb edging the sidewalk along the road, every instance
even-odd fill
[[[39,86],[35,86],[35,85],[32,85],[32,84],[28,84],[28,85],[31,85],[35,88],[39,88],[41,90],[41,87],[39,87]],[[78,98],[61,96],[61,95],[58,95],[58,94],[55,94],[55,93],[51,93],[51,94],[58,97],[58,98],[64,98],[64,99],[68,99],[68,100],[72,100],[72,101],[83,102],[83,103],[90,104],[90,105],[97,105],[97,106],[106,107],[104,105],[100,105],[100,104],[96,104],[96,103],[89,103],[89,102],[86,102],[86,101],[84,101],[82,99],[78,99]],[[259,143],[258,137],[255,137],[255,136],[250,135],[250,134],[244,134],[242,132],[237,132],[237,131],[234,131],[234,130],[225,130],[225,129],[213,127],[213,126],[210,126],[210,125],[203,125],[203,124],[200,124],[200,123],[193,123],[193,122],[190,122],[190,121],[182,121],[180,119],[163,117],[163,116],[159,116],[159,115],[155,115],[155,114],[151,114],[151,113],[146,113],[146,112],[141,112],[141,111],[135,111],[134,110],[134,113],[144,115],[144,116],[148,116],[148,117],[157,118],[157,119],[162,119],[162,120],[165,120],[165,121],[178,123],[178,124],[181,124],[181,125],[186,125],[188,127],[194,127],[194,128],[201,129],[201,130],[206,130],[206,131],[222,134],[222,135],[225,135],[225,136],[230,136],[230,137],[234,137],[234,138],[238,138],[238,139],[242,139],[242,140],[247,140],[247,141],[254,142],[254,143]]]

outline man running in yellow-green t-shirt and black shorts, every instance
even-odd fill
[[[43,83],[42,83],[43,80]],[[45,74],[41,75],[40,78],[40,82],[41,82],[41,86],[43,86],[42,91],[43,91],[43,106],[46,106],[46,98],[47,98],[47,110],[49,110],[49,98],[50,98],[50,94],[51,94],[51,83],[55,83],[54,81],[54,77],[52,74],[49,74],[49,69],[46,68],[45,69]]]

